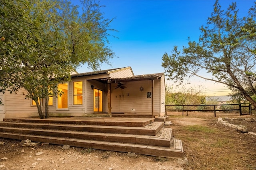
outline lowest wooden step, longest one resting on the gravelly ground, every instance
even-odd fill
[[[39,135],[24,135],[18,133],[0,132],[0,137],[9,139],[26,140],[34,142],[51,143],[57,145],[70,145],[73,147],[92,148],[100,150],[112,150],[118,152],[135,152],[137,154],[146,154],[152,156],[161,156],[167,158],[182,158],[183,148],[180,140],[173,139],[172,147],[159,147],[152,145],[116,143],[106,141],[93,141],[84,139],[68,139],[63,137],[48,137]]]

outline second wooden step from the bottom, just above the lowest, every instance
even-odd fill
[[[61,131],[61,130],[56,131],[56,130],[50,130],[50,129],[28,129],[28,128],[14,128],[14,127],[0,127],[0,132],[52,136],[52,137],[68,137],[68,138],[74,138],[74,139],[87,139],[87,140],[94,140],[94,141],[137,143],[137,144],[162,146],[162,147],[170,147],[171,136],[172,136],[172,129],[170,128],[162,128],[156,136]]]

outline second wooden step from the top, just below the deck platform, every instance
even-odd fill
[[[19,127],[30,129],[56,129],[65,131],[87,131],[98,133],[123,133],[134,135],[155,136],[163,127],[164,122],[152,122],[144,127],[122,127],[102,125],[77,125],[77,124],[54,124],[54,123],[23,123],[23,122],[0,122],[0,126]]]

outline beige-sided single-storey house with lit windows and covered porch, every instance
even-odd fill
[[[135,76],[132,68],[114,68],[73,74],[58,85],[64,94],[49,96],[50,116],[109,116],[120,114],[164,115],[164,73]],[[0,94],[0,121],[4,118],[38,116],[26,91]],[[107,114],[106,114],[107,113]]]

